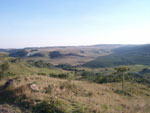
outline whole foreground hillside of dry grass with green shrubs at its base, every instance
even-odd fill
[[[5,82],[1,81],[0,85],[3,86]],[[35,84],[37,90],[31,89],[29,84]],[[18,109],[25,107],[28,112],[36,113],[149,112],[148,87],[126,83],[128,95],[119,93],[120,89],[120,83],[100,85],[39,75],[18,76],[5,89],[0,90],[0,101],[8,105],[13,102],[18,105]]]

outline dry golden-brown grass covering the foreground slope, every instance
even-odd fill
[[[3,84],[4,81],[1,83]],[[38,92],[26,86],[35,83]],[[127,83],[131,95],[115,93],[121,84],[95,84],[84,81],[68,81],[46,76],[28,75],[17,78],[13,88],[16,96],[26,95],[34,102],[57,98],[78,109],[80,105],[89,113],[148,113],[150,111],[150,89],[143,85]]]

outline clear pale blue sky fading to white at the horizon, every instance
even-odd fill
[[[150,43],[150,0],[0,0],[0,48]]]

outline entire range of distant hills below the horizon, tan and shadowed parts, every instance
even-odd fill
[[[70,64],[86,67],[113,67],[118,65],[150,65],[150,45],[99,44],[91,46],[34,47],[0,49],[10,57],[44,60],[53,65]]]

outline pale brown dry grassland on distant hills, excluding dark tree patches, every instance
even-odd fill
[[[112,47],[115,48],[115,47]],[[92,46],[79,46],[79,47],[52,47],[52,48],[41,48],[38,49],[39,52],[45,55],[45,57],[37,57],[37,58],[26,58],[28,60],[34,59],[34,60],[44,60],[47,62],[52,63],[53,65],[58,64],[71,64],[73,66],[76,65],[82,65],[86,62],[89,62],[91,60],[94,60],[95,58],[99,56],[104,56],[110,53],[111,49],[110,47],[92,47]],[[104,51],[105,49],[105,51]],[[49,58],[49,52],[52,51],[59,51],[62,54],[69,54],[74,53],[80,56],[84,57],[78,57],[78,56],[65,56],[60,57],[56,59],[50,59]],[[81,52],[83,51],[83,52]]]

